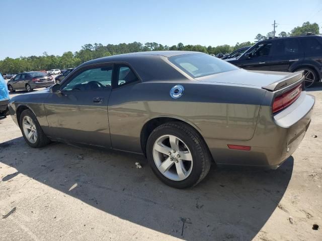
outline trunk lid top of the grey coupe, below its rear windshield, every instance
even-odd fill
[[[294,73],[237,69],[196,79],[203,82],[241,84],[262,88],[262,86],[285,79],[288,75],[291,76]]]

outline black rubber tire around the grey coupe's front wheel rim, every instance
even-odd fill
[[[36,126],[36,130],[37,130],[37,141],[35,143],[31,143],[29,142],[29,140],[27,139],[27,137],[25,136],[25,133],[23,131],[22,128],[22,122],[25,116],[29,116],[32,121],[34,122],[35,126]],[[50,140],[46,137],[46,135],[44,134],[44,132],[42,131],[39,122],[37,121],[36,116],[34,115],[34,113],[30,110],[30,109],[25,109],[21,115],[20,115],[20,120],[19,120],[19,126],[20,126],[20,130],[22,132],[22,135],[25,139],[25,141],[27,142],[27,144],[33,148],[40,148],[40,147],[44,147],[46,145],[48,145],[50,143]]]

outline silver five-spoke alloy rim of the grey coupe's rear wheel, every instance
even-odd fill
[[[185,180],[192,171],[193,158],[189,148],[173,135],[161,136],[154,142],[153,160],[159,172],[174,181]]]

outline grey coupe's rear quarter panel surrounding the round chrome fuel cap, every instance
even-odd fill
[[[182,84],[178,99],[170,89]],[[142,127],[156,117],[172,117],[193,126],[206,140],[250,140],[266,90],[200,81],[149,81],[112,91],[108,112],[112,146],[141,152]]]

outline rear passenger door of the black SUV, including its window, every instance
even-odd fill
[[[273,42],[271,71],[290,72],[292,66],[303,61],[304,52],[297,38],[276,39]]]

